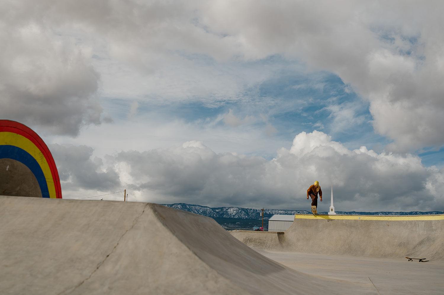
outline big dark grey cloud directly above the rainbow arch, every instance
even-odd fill
[[[32,19],[19,22],[20,13],[7,10],[0,17],[0,116],[71,136],[99,124],[99,73],[87,52],[74,38],[57,36]]]

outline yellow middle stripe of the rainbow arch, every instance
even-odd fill
[[[46,178],[46,183],[48,185],[49,197],[56,198],[56,187],[54,185],[54,179],[52,178],[51,169],[49,168],[48,161],[46,160],[44,154],[40,149],[32,143],[28,138],[12,132],[0,132],[0,145],[16,146],[20,149],[28,152],[37,163],[39,163],[40,168]]]

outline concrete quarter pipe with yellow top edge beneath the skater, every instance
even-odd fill
[[[285,232],[231,232],[271,251],[377,258],[444,260],[444,214],[357,216],[297,214]]]

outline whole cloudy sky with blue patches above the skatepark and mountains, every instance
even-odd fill
[[[442,11],[2,1],[0,118],[48,144],[63,198],[309,209],[317,180],[320,211],[332,184],[337,211],[442,211]]]

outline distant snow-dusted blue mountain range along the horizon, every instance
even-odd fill
[[[240,207],[218,207],[211,208],[201,205],[190,205],[185,203],[170,204],[167,207],[180,209],[183,211],[193,212],[203,216],[213,217],[213,218],[238,218],[238,219],[262,219],[261,211],[262,209],[254,208],[240,208]],[[327,214],[328,212],[318,212],[319,214]],[[442,211],[430,211],[430,212],[343,212],[336,211],[337,214],[347,214],[347,215],[430,215],[430,214],[442,214]],[[279,210],[279,209],[264,209],[264,220],[268,220],[274,214],[311,214],[311,212],[306,210]]]

